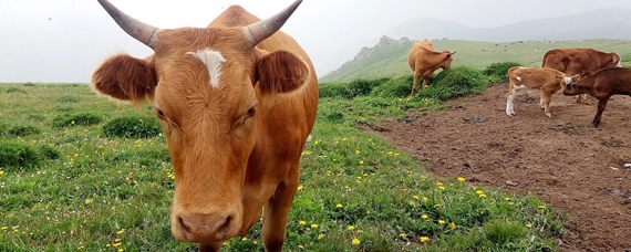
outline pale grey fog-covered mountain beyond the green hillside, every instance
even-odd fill
[[[437,19],[413,19],[387,32],[391,38],[508,42],[631,39],[631,10],[600,9],[560,18],[521,21],[497,28],[470,28]]]

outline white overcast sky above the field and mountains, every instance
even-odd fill
[[[161,28],[206,27],[231,4],[265,19],[292,0],[111,0]],[[500,27],[601,8],[629,0],[304,0],[282,31],[310,55],[319,76],[341,66],[361,46],[413,18]],[[545,29],[545,28],[542,28]],[[399,38],[394,38],[399,39]],[[124,33],[95,0],[0,0],[0,83],[87,83],[111,54],[144,57],[149,49]]]

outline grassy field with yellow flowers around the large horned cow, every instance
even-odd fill
[[[467,178],[434,177],[356,128],[441,106],[322,98],[285,250],[555,250],[563,211]],[[111,134],[122,118],[136,137]],[[174,177],[155,126],[148,109],[97,97],[87,85],[0,84],[0,251],[195,251],[170,235]],[[224,251],[262,251],[260,224]]]

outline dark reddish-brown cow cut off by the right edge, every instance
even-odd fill
[[[631,96],[631,69],[606,69],[581,80],[572,77],[572,81],[563,88],[563,95],[580,94],[588,94],[598,99],[598,112],[591,122],[594,127],[598,127],[609,97],[612,95]]]

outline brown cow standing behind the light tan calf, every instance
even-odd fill
[[[561,71],[569,75],[589,76],[601,69],[620,67],[620,56],[617,53],[606,53],[593,49],[552,49],[544,55],[541,67]],[[585,101],[586,95],[577,96],[577,103]]]

